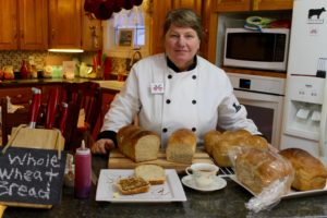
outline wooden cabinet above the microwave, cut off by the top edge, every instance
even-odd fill
[[[293,0],[218,0],[216,12],[291,10]]]

